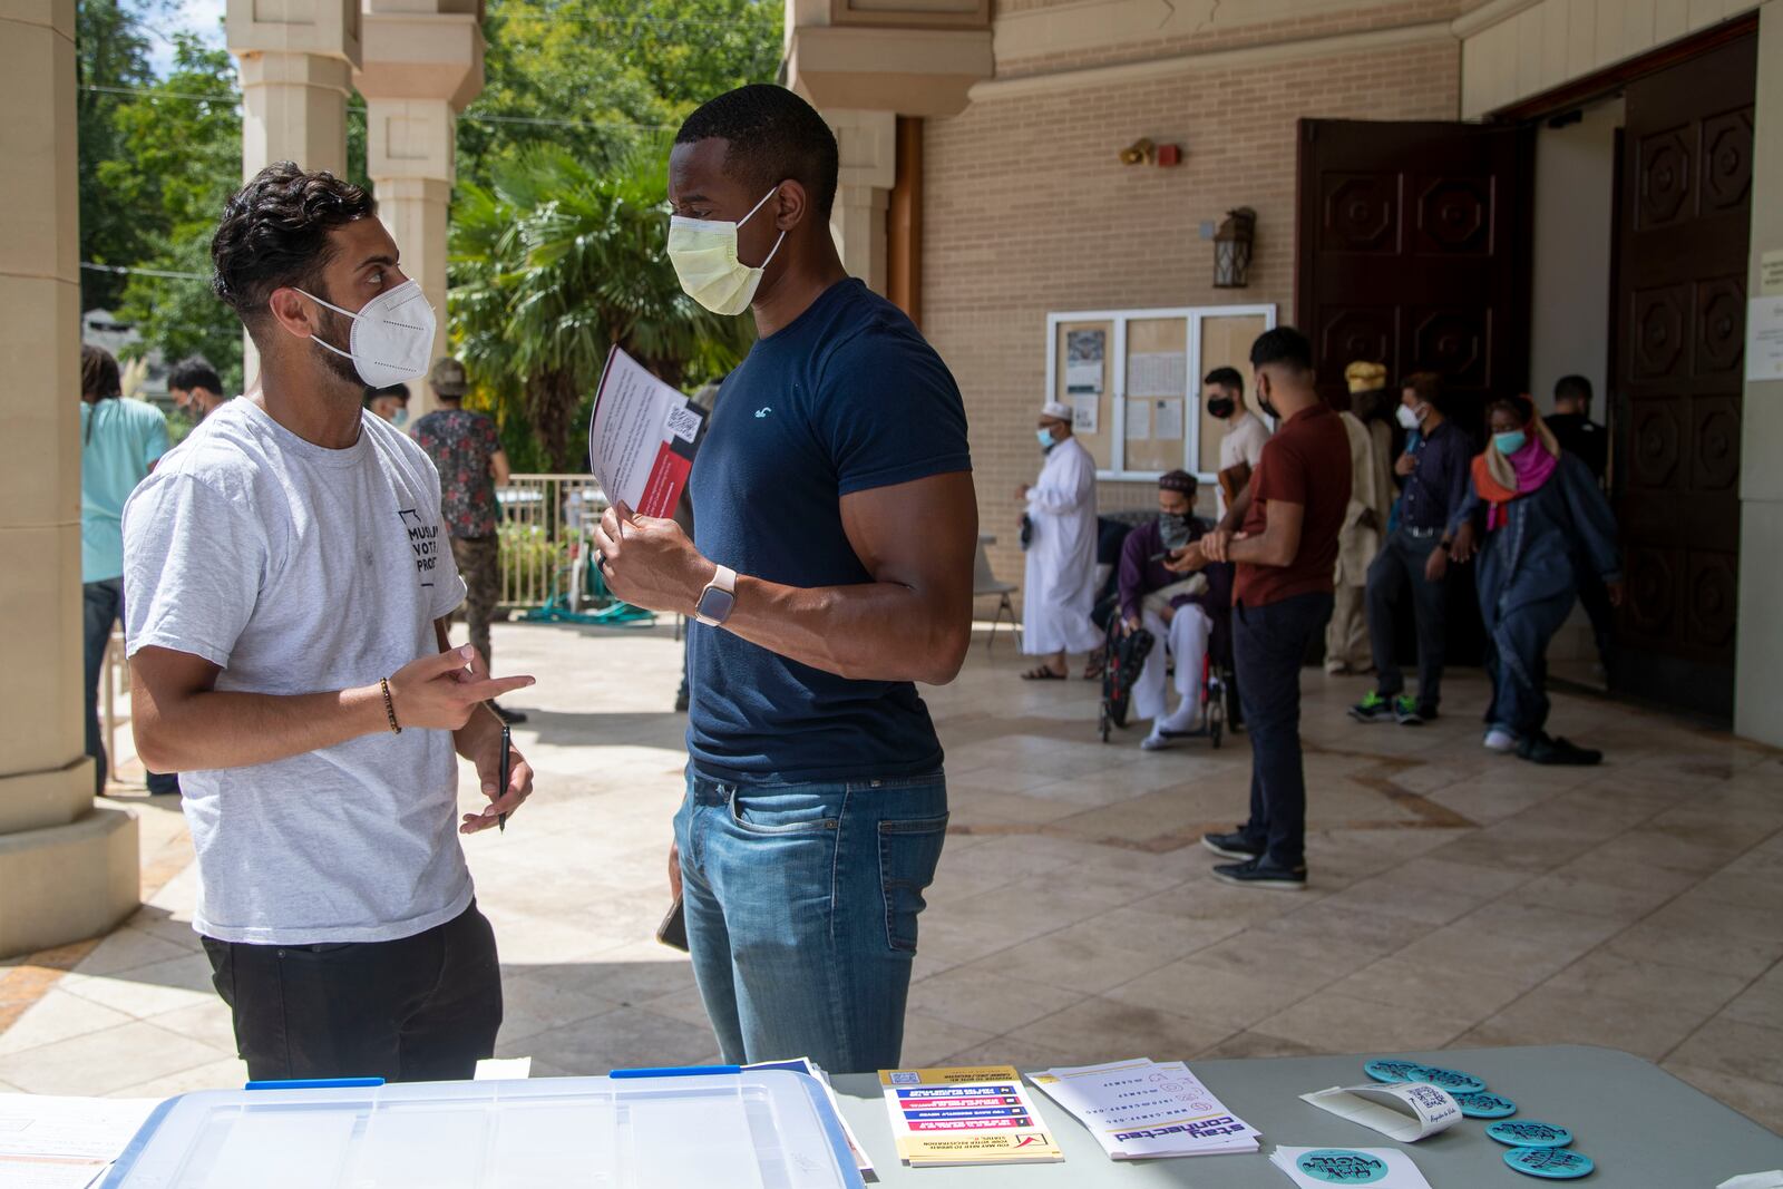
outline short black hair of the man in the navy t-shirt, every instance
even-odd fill
[[[829,217],[836,201],[836,134],[786,87],[752,82],[706,100],[681,123],[674,143],[710,139],[729,141],[724,171],[758,198],[790,178],[811,196],[811,212]]]

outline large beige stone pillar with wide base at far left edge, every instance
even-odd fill
[[[136,815],[93,804],[80,663],[75,0],[0,9],[0,957],[137,906]]]

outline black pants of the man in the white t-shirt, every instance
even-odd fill
[[[444,1082],[469,1078],[496,1052],[501,963],[474,902],[398,941],[203,941],[255,1080]]]

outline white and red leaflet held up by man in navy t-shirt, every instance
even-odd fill
[[[588,469],[608,503],[624,501],[638,515],[672,515],[704,422],[699,405],[613,348],[588,419]]]

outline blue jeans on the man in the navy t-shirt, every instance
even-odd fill
[[[724,1059],[897,1068],[947,779],[738,786],[690,770],[674,832],[694,977]]]

